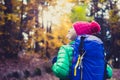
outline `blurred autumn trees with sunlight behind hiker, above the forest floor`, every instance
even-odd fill
[[[0,0],[0,55],[26,52],[50,58],[69,42],[65,35],[73,22],[96,20],[102,28],[100,37],[116,60],[119,4],[120,0]]]

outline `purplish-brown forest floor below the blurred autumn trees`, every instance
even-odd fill
[[[18,59],[0,59],[0,80],[59,80],[51,71],[51,60],[39,55],[25,55]],[[114,69],[113,78],[120,80],[120,69]]]

